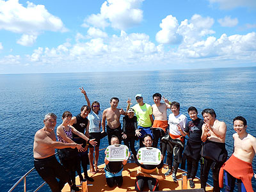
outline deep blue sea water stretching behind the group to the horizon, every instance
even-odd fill
[[[231,155],[234,117],[244,116],[248,132],[256,136],[255,76],[256,67],[0,75],[0,189],[8,191],[33,168],[33,139],[35,132],[44,126],[46,113],[56,113],[57,125],[61,124],[63,111],[71,111],[73,115],[79,113],[81,106],[86,104],[79,90],[81,86],[91,101],[100,102],[101,109],[109,107],[111,97],[118,97],[118,106],[125,109],[128,98],[136,104],[134,96],[137,93],[143,95],[144,102],[153,104],[152,95],[156,92],[170,101],[180,102],[180,113],[186,116],[189,106],[195,106],[198,111],[213,108],[217,118],[227,124],[226,146]],[[107,143],[104,138],[100,147],[106,147]],[[100,156],[101,162],[102,159]],[[256,170],[256,158],[253,167]],[[254,178],[252,182],[256,189]],[[42,179],[33,172],[27,183],[27,191],[33,191]],[[211,178],[209,183],[212,183]],[[14,191],[22,190],[21,183]],[[44,186],[40,191],[49,191],[49,188]]]

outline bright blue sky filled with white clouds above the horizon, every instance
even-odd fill
[[[255,0],[0,0],[0,74],[255,66]]]

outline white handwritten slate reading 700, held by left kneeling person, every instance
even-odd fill
[[[129,148],[126,145],[109,145],[106,152],[108,161],[124,161],[129,158]]]

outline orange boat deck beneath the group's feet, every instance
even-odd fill
[[[99,172],[95,173],[94,175],[90,172],[88,172],[88,175],[90,177],[93,177],[94,182],[89,182],[88,181],[88,191],[92,191],[92,192],[98,192],[98,191],[118,191],[118,192],[122,192],[122,191],[135,191],[134,188],[134,184],[135,184],[135,180],[136,180],[136,171],[138,166],[135,163],[127,163],[124,166],[124,171],[122,172],[123,175],[123,185],[121,188],[109,188],[109,186],[106,183],[106,177],[105,177],[105,172],[104,172],[104,166],[105,164],[101,164],[99,166]],[[163,173],[167,172],[167,169],[163,168]],[[172,176],[168,176],[166,177],[165,180],[161,180],[159,181],[159,191],[170,191],[170,190],[180,190],[182,189],[182,180],[181,180],[181,176],[182,173],[184,173],[184,171],[179,170],[177,172],[177,179],[180,179],[178,183],[173,182],[172,180]],[[200,188],[200,180],[198,178],[194,179],[195,182],[195,189],[199,189]],[[76,184],[77,186],[80,188],[81,191],[81,186],[80,185],[80,180],[79,177],[76,178]],[[90,186],[92,184],[92,186]],[[189,187],[189,180],[188,180],[188,189],[191,189]],[[207,191],[213,191],[212,190],[212,186],[207,184]],[[144,191],[148,191],[147,188],[144,187]],[[70,192],[70,187],[68,186],[68,184],[65,185],[65,187],[63,188],[62,192]]]

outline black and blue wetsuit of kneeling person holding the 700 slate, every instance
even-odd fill
[[[124,165],[122,161],[109,161],[104,170],[106,173],[106,181],[110,188],[114,186],[122,186],[123,184],[123,171]]]

